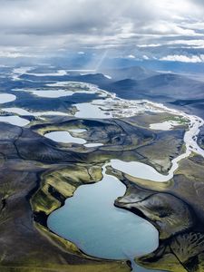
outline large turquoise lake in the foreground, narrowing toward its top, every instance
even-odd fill
[[[48,227],[94,257],[130,259],[151,253],[158,247],[157,229],[113,205],[125,190],[120,180],[103,170],[102,181],[79,187],[73,198],[53,211]]]

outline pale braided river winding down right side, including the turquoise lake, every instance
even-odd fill
[[[107,94],[106,91],[102,92]],[[151,111],[169,112],[189,121],[189,130],[185,132],[183,139],[186,151],[171,160],[168,175],[162,175],[151,166],[138,161],[115,159],[108,162],[112,168],[131,176],[166,182],[173,178],[180,160],[187,158],[192,151],[204,156],[204,151],[197,144],[203,120],[197,116],[169,109],[159,103],[122,100],[109,92],[104,100],[76,104],[76,107],[78,112],[75,116],[79,118],[120,118]],[[147,220],[114,207],[114,200],[125,193],[125,187],[120,180],[105,173],[106,165],[103,166],[102,180],[76,189],[73,198],[67,199],[62,208],[50,215],[48,227],[63,238],[73,241],[88,255],[110,259],[128,258],[134,271],[150,271],[138,267],[133,259],[158,247],[158,232]]]

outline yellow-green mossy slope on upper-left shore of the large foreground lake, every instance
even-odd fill
[[[73,196],[80,185],[102,180],[101,166],[70,164],[59,170],[47,171],[42,175],[41,188],[32,198],[35,212],[49,215],[59,208],[63,201]]]

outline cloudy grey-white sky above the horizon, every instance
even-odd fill
[[[0,57],[204,63],[203,0],[0,0]]]

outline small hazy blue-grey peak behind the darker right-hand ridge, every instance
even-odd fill
[[[114,81],[120,81],[124,79],[142,80],[159,74],[141,66],[126,67],[121,69],[103,69],[101,72],[111,76],[112,80]]]

